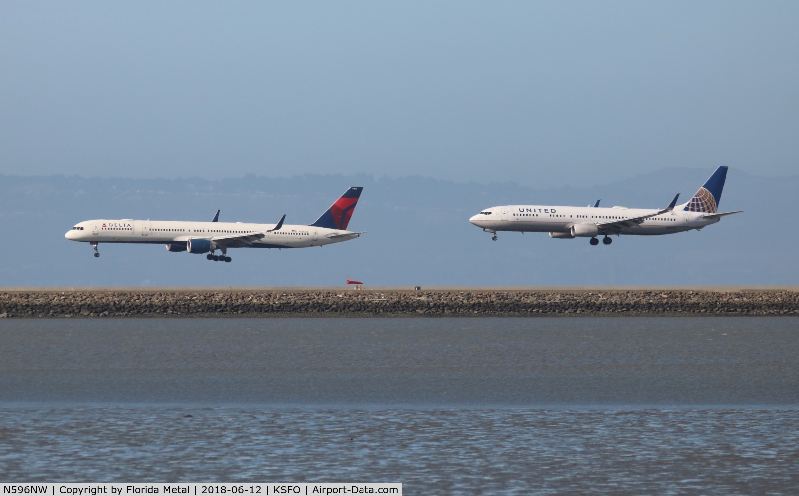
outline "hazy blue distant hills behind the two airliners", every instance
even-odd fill
[[[744,210],[702,232],[622,236],[610,246],[547,234],[500,233],[467,219],[508,203],[664,207],[687,200],[712,172],[664,169],[575,189],[456,183],[421,176],[247,175],[218,180],[0,175],[0,224],[14,234],[2,286],[342,285],[795,285],[797,234],[785,226],[799,175],[729,171],[721,210]],[[531,170],[531,175],[535,171]],[[322,248],[233,250],[230,264],[163,246],[100,246],[63,238],[89,218],[313,222],[347,187],[364,193],[350,228],[368,234]],[[18,234],[22,233],[22,238]]]

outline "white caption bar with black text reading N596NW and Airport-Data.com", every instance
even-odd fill
[[[191,496],[251,496],[253,494],[394,494],[402,496],[402,482],[3,482],[2,493],[45,496],[147,496],[190,494]]]

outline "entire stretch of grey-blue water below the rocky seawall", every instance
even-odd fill
[[[787,318],[0,322],[0,480],[795,494]]]

